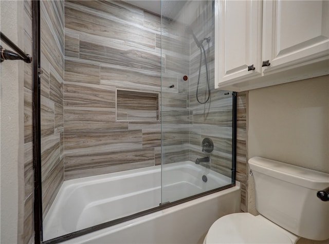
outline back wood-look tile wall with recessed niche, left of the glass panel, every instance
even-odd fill
[[[159,16],[124,2],[65,1],[65,179],[155,165],[159,35]]]

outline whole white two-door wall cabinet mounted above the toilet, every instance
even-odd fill
[[[329,73],[329,1],[219,0],[215,11],[218,88],[244,91]]]

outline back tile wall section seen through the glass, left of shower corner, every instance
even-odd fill
[[[156,45],[165,55],[165,78],[161,92],[162,151],[156,164],[170,164],[189,160],[189,80],[184,81],[183,76],[190,75],[190,36],[184,24],[166,17],[161,21],[162,36],[157,36]]]

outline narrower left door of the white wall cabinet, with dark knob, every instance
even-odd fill
[[[262,2],[226,0],[218,6],[219,84],[261,75]]]

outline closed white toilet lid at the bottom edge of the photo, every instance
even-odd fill
[[[217,219],[210,227],[204,243],[293,244],[298,239],[299,237],[275,225],[275,223],[261,215],[234,213]]]

